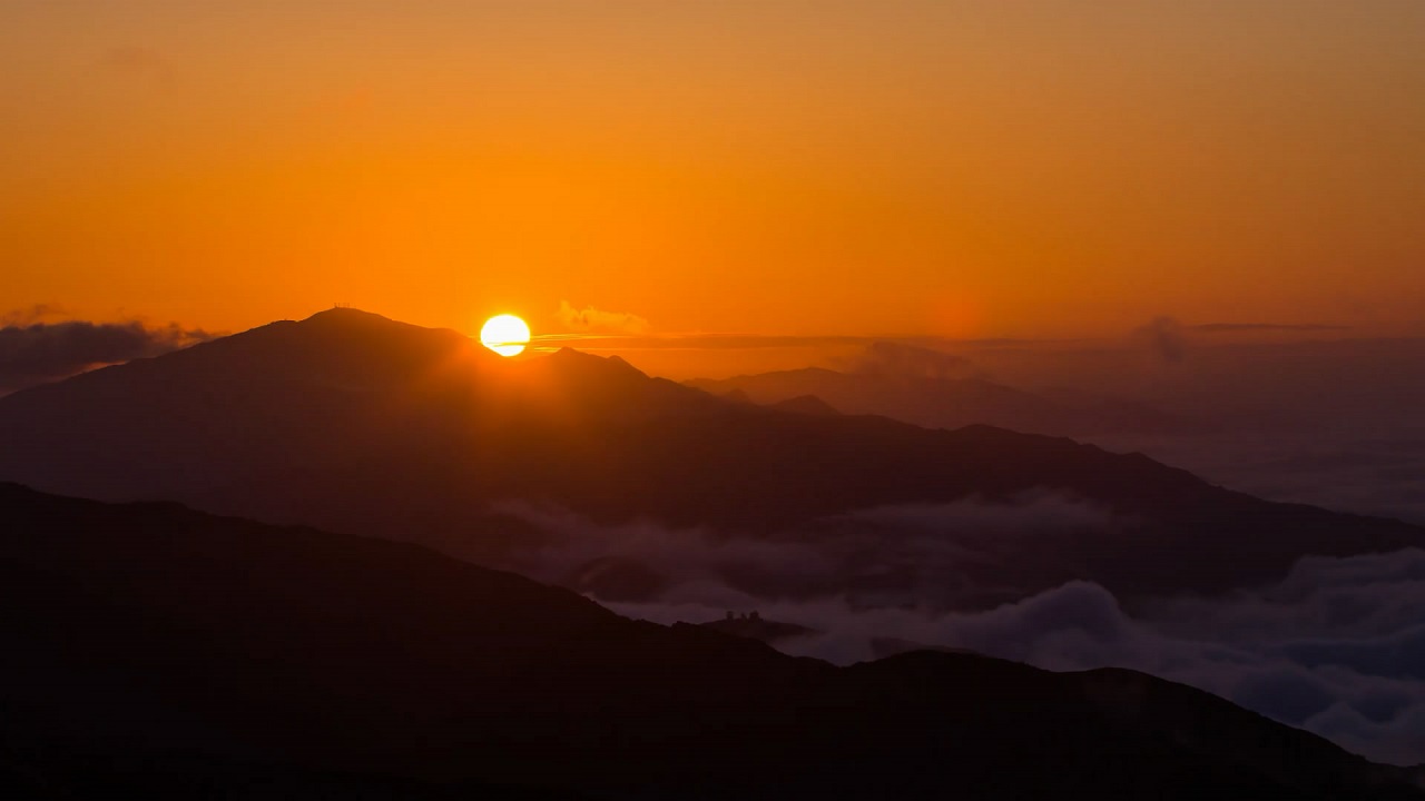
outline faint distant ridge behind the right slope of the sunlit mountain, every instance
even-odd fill
[[[846,372],[804,368],[685,383],[712,395],[735,393],[768,406],[809,396],[842,413],[884,415],[926,428],[990,425],[1089,439],[1102,435],[1187,435],[1194,429],[1190,420],[1141,403],[1067,392],[1036,393],[980,376],[923,375],[879,365]]]

